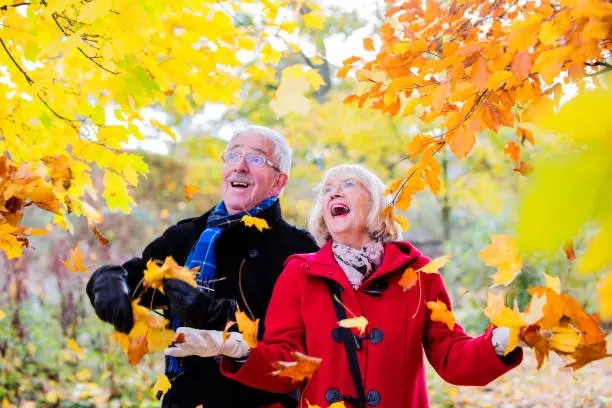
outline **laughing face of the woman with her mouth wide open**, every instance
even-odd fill
[[[370,193],[356,178],[331,177],[321,190],[323,220],[334,241],[367,241]],[[363,241],[362,243],[364,243]]]

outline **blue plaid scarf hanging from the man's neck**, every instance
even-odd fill
[[[200,238],[191,249],[187,260],[185,261],[185,267],[193,269],[199,266],[198,275],[196,276],[196,282],[200,290],[205,290],[210,296],[214,296],[217,264],[215,259],[215,241],[223,232],[226,227],[240,222],[240,219],[245,215],[257,216],[266,208],[270,208],[278,197],[268,197],[261,203],[251,208],[249,211],[241,212],[239,214],[228,215],[225,203],[221,201],[215,206],[210,212],[208,219],[206,220],[206,229],[202,231]],[[179,319],[172,320],[172,329],[176,331],[181,327],[183,323]],[[180,365],[180,358],[167,357],[167,374],[177,374],[182,370]]]

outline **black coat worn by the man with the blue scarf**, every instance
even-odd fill
[[[206,228],[209,214],[210,211],[173,225],[145,248],[142,257],[133,258],[123,264],[123,268],[128,272],[130,289],[133,291],[138,286],[150,259],[163,261],[171,255],[179,265],[184,265],[192,247]],[[250,309],[256,318],[261,319],[261,339],[266,309],[285,259],[292,254],[317,251],[318,247],[308,232],[289,225],[282,218],[278,201],[263,210],[258,217],[265,219],[270,229],[260,232],[255,227],[235,223],[225,228],[215,241],[216,278],[225,279],[215,282],[214,296],[234,299],[240,310]],[[117,267],[103,266],[94,275],[102,273],[105,268]],[[155,294],[155,299],[156,303],[158,300],[163,303],[164,300],[160,293]],[[146,304],[146,301],[143,304]],[[163,407],[193,408],[202,404],[206,408],[255,408],[275,402],[286,406],[297,404],[287,395],[248,388],[224,377],[214,358],[186,357],[182,359],[182,367],[184,372],[170,379],[172,387],[164,397]]]

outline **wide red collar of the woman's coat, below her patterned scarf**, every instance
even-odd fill
[[[362,285],[380,276],[395,272],[421,256],[421,252],[409,242],[389,242],[385,244],[385,255],[382,264],[372,275],[362,282]],[[343,286],[350,286],[344,271],[334,259],[331,240],[318,252],[307,255],[306,263],[312,265],[312,267],[307,268],[307,273],[309,275],[332,279]]]

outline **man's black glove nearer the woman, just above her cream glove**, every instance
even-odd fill
[[[236,301],[216,299],[178,279],[164,279],[170,314],[194,329],[223,330],[234,320]]]

